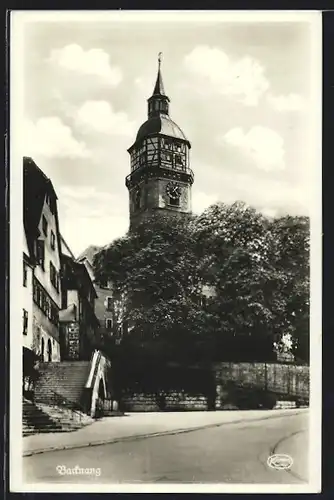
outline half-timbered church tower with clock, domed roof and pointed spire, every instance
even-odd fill
[[[131,173],[129,190],[130,228],[147,215],[191,212],[194,174],[189,165],[190,142],[169,117],[169,98],[161,76],[161,53],[153,94],[148,99],[148,119],[128,149]]]

